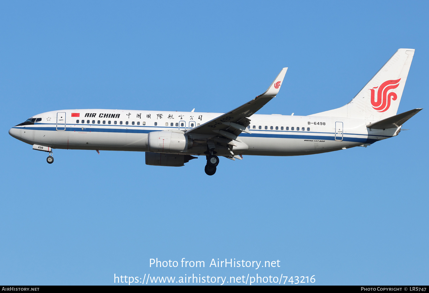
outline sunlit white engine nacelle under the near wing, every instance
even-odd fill
[[[192,147],[192,140],[183,132],[154,131],[148,134],[150,152],[183,152]]]

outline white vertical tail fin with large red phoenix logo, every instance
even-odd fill
[[[414,49],[399,49],[347,105],[310,116],[378,121],[396,115],[413,56]]]

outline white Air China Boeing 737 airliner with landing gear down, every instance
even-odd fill
[[[367,147],[399,134],[421,108],[396,114],[414,49],[399,49],[346,105],[308,116],[255,114],[279,92],[287,68],[268,89],[226,113],[76,109],[49,111],[12,127],[12,137],[48,152],[88,149],[145,152],[153,166],[184,166],[205,156],[213,175],[219,157],[311,155]]]

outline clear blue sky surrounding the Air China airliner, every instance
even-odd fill
[[[315,284],[428,284],[426,1],[2,1],[1,284],[113,284],[113,276],[312,276]],[[8,134],[45,111],[260,114],[340,107],[398,48],[416,53],[398,137],[298,157],[145,165],[141,152],[55,150]],[[149,268],[149,259],[205,268]],[[212,258],[280,268],[208,267]],[[177,280],[177,279],[176,279]],[[270,284],[270,283],[267,283]],[[290,283],[287,283],[290,284]]]

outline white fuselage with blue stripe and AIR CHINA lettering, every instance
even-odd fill
[[[73,113],[73,114],[72,114]],[[74,117],[72,117],[72,115]],[[79,117],[77,117],[79,115]],[[222,113],[79,109],[45,112],[38,122],[18,125],[9,133],[27,144],[54,149],[97,149],[148,152],[148,133],[199,126]],[[251,134],[243,132],[232,151],[238,155],[309,155],[372,144],[399,133],[370,130],[372,121],[335,117],[261,115],[250,117]],[[21,123],[25,124],[25,123]],[[214,134],[215,135],[215,134]],[[198,144],[181,154],[204,155]],[[218,155],[230,155],[229,150]]]

